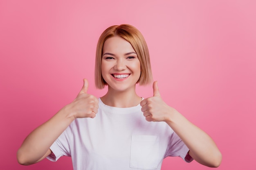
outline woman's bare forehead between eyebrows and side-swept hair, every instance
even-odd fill
[[[106,39],[103,45],[103,52],[135,52],[132,45],[126,39],[120,36],[114,36]]]

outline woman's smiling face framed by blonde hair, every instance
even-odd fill
[[[105,41],[101,74],[108,83],[109,90],[135,89],[141,74],[140,62],[128,41],[119,36],[110,37]]]

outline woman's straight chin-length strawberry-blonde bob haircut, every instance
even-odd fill
[[[146,41],[137,28],[129,24],[122,24],[108,27],[99,37],[96,49],[94,75],[96,88],[103,89],[107,85],[101,74],[101,58],[106,39],[113,36],[120,36],[124,38],[132,45],[133,49],[137,53],[141,67],[141,76],[137,83],[140,85],[148,85],[151,83],[153,81],[153,76]]]

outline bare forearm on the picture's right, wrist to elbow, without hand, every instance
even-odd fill
[[[167,119],[166,123],[189,148],[189,155],[205,166],[218,167],[222,156],[213,139],[176,110],[171,114],[172,119]]]

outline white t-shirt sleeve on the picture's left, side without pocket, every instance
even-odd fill
[[[70,157],[70,136],[72,135],[71,125],[65,129],[65,131],[56,139],[56,141],[50,146],[52,154],[46,158],[50,161],[57,161],[62,156]]]

